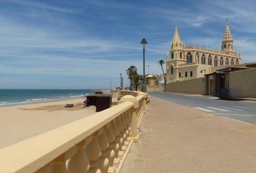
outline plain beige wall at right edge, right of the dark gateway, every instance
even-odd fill
[[[256,68],[229,73],[230,97],[256,98]]]

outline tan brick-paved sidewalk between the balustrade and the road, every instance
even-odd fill
[[[256,172],[256,126],[150,97],[121,173]]]

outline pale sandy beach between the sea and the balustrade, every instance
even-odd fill
[[[74,104],[74,107],[64,107]],[[83,107],[82,98],[0,107],[0,148],[23,141],[95,113]]]

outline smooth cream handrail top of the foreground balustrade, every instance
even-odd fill
[[[35,172],[133,107],[132,102],[97,112],[0,149],[0,172]],[[64,134],[59,136],[59,134]]]

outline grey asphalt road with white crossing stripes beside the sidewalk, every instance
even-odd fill
[[[204,97],[195,94],[174,94],[168,92],[150,92],[149,95],[187,107],[193,107],[197,110],[202,110],[214,115],[230,117],[256,125],[256,101],[250,103],[218,99],[218,97]]]

